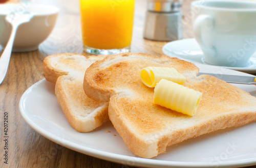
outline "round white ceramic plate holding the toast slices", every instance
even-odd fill
[[[204,72],[243,74],[214,66],[199,64],[198,67]],[[256,96],[255,86],[237,86]],[[45,79],[35,83],[23,94],[19,109],[25,121],[51,141],[74,151],[120,164],[144,167],[256,165],[256,122],[191,138],[168,147],[166,153],[153,159],[144,159],[127,148],[111,122],[90,133],[74,130],[57,102],[54,85]]]

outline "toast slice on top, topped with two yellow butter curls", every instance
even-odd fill
[[[184,86],[203,94],[195,116],[153,104],[154,88],[140,79],[140,70],[148,66],[176,68],[186,77]],[[256,120],[255,97],[198,72],[194,64],[177,58],[109,55],[87,69],[83,89],[92,99],[109,100],[109,118],[125,144],[138,156],[152,158],[188,138]]]

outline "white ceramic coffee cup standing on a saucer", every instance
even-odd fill
[[[256,3],[191,3],[195,39],[211,65],[245,67],[256,51]]]

